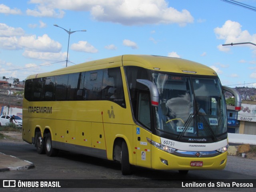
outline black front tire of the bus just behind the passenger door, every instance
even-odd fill
[[[121,151],[121,171],[123,175],[131,174],[131,165],[129,162],[129,152],[126,142],[122,142]]]

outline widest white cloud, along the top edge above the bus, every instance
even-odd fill
[[[31,16],[62,18],[63,10],[74,10],[89,11],[92,18],[98,21],[123,25],[177,23],[185,26],[194,22],[188,10],[178,11],[168,6],[166,0],[30,0],[30,3],[36,4],[34,10],[27,10]]]

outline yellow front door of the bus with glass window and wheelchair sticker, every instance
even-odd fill
[[[150,94],[149,92],[139,92],[138,105],[136,112],[137,121],[142,126],[134,126],[135,138],[135,150],[136,150],[136,164],[137,166],[143,166],[151,168],[151,144],[147,141],[147,138],[151,140],[151,120],[150,120]]]

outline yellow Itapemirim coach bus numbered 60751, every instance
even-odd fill
[[[156,170],[223,169],[227,115],[214,70],[180,58],[122,55],[26,78],[24,141]]]

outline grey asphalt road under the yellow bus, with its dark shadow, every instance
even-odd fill
[[[0,142],[0,152],[28,160],[35,165],[35,168],[30,170],[0,172],[0,179],[84,179],[83,182],[92,184],[93,187],[104,187],[104,191],[110,190],[109,187],[114,187],[114,191],[117,191],[118,188],[122,188],[124,186],[126,188],[131,186],[140,188],[138,191],[143,191],[141,186],[150,187],[150,191],[155,190],[152,189],[152,187],[174,187],[175,191],[183,191],[184,188],[179,188],[179,181],[184,179],[192,181],[196,179],[218,179],[220,181],[225,181],[224,179],[256,180],[256,160],[236,156],[228,157],[228,164],[224,170],[190,171],[188,175],[182,176],[178,174],[177,171],[157,171],[144,168],[135,168],[132,175],[123,176],[120,171],[120,165],[114,162],[80,154],[72,154],[69,152],[61,152],[57,157],[48,157],[46,155],[37,154],[36,148],[34,148],[33,145],[26,144],[25,142],[18,144]],[[44,189],[41,190],[44,191]],[[101,191],[102,190],[103,189],[101,189]],[[126,189],[123,188],[122,191],[123,190],[125,191]],[[191,189],[190,191],[201,190],[203,190],[203,188]],[[205,190],[216,191],[209,188],[204,189],[204,191]],[[254,191],[255,188],[254,190],[252,188],[220,188],[218,190],[244,190],[246,192],[250,192]],[[22,191],[22,189],[16,189],[16,191]],[[40,189],[35,189],[34,191],[40,191]],[[54,191],[57,190],[55,189]],[[72,190],[65,189],[65,191]],[[168,191],[170,191],[170,189]]]

